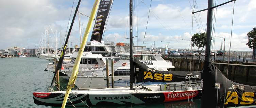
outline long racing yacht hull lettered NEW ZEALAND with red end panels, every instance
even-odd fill
[[[133,90],[132,90],[133,91]],[[77,98],[76,96],[79,98]],[[181,101],[193,98],[199,98],[202,90],[161,92],[161,93],[70,93],[69,99],[74,106],[101,106],[101,105],[130,105],[130,104],[151,104],[164,103],[172,101]],[[46,106],[61,106],[65,93],[33,93],[35,104]],[[83,102],[82,102],[83,101]],[[66,106],[72,106],[67,101]]]

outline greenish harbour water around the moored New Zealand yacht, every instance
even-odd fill
[[[0,108],[59,108],[36,105],[33,92],[47,92],[53,73],[44,71],[46,59],[37,57],[0,58]],[[64,88],[68,81],[62,80]],[[133,108],[200,108],[201,99],[163,104],[133,105]],[[189,105],[189,106],[188,106]],[[90,106],[91,107],[91,106]],[[68,107],[73,108],[73,107]],[[86,108],[76,107],[76,108]],[[92,108],[131,108],[128,106],[97,106]]]

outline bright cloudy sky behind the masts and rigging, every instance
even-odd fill
[[[114,0],[109,20],[106,26],[103,41],[115,41],[129,43],[125,35],[129,36],[128,3],[129,0]],[[207,8],[207,0],[196,0],[195,11]],[[218,0],[217,4],[229,0]],[[74,9],[78,0],[74,0]],[[90,15],[94,0],[82,0],[79,11]],[[18,46],[36,48],[40,45],[40,39],[44,36],[45,28],[50,25],[50,46],[55,47],[56,32],[60,41],[64,39],[73,0],[2,0],[0,3],[0,49]],[[194,14],[192,21],[193,0],[152,0],[147,32],[145,35],[150,0],[134,1],[134,38],[135,45],[142,45],[144,36],[145,46],[154,44],[164,47],[168,42],[169,48],[188,48],[188,41],[193,33],[205,31],[207,11]],[[217,8],[215,32],[218,36],[214,39],[214,48],[220,49],[221,38],[226,38],[226,50],[251,51],[247,43],[246,33],[256,26],[256,0],[236,0],[234,8],[233,33],[231,37],[233,2]],[[73,16],[73,13],[72,13]],[[88,22],[88,17],[81,16],[83,33]],[[193,25],[192,25],[193,24]],[[91,33],[90,33],[91,35]],[[80,43],[78,18],[73,26],[70,42],[72,45]],[[90,36],[89,36],[90,39]],[[162,42],[161,42],[162,41]],[[36,46],[36,47],[35,47]],[[58,46],[60,44],[58,43]],[[193,49],[195,49],[194,47]]]

